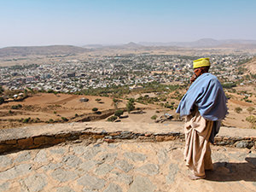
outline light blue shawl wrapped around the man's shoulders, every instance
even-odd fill
[[[214,121],[209,139],[211,143],[214,143],[220,122],[228,112],[226,102],[227,98],[218,79],[211,73],[203,73],[191,84],[179,103],[176,113],[180,113],[183,117],[198,108],[203,118]]]

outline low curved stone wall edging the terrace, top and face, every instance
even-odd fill
[[[64,126],[65,125],[65,126]],[[14,150],[44,148],[59,143],[75,140],[96,141],[102,139],[107,143],[115,143],[121,140],[136,140],[137,142],[166,142],[179,139],[184,141],[183,132],[177,131],[179,126],[173,129],[165,125],[158,125],[157,129],[150,127],[133,127],[128,131],[125,124],[62,124],[44,125],[38,127],[23,127],[0,131],[0,154]],[[101,126],[103,125],[104,129]],[[118,125],[109,128],[109,125]],[[154,125],[155,126],[155,125]],[[105,129],[106,128],[106,129]],[[178,129],[177,129],[178,128]],[[119,129],[119,130],[118,130]],[[147,130],[147,131],[145,131]],[[218,136],[215,144],[236,148],[256,148],[256,137]]]

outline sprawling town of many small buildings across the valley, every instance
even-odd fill
[[[203,55],[201,57],[205,57]],[[241,78],[241,62],[252,55],[207,55],[211,73],[232,82]],[[112,85],[188,82],[192,61],[199,56],[187,55],[119,55],[58,61],[44,65],[0,67],[0,85],[9,90],[55,90],[76,92]]]

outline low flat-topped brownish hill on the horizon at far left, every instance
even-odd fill
[[[28,47],[6,47],[0,49],[2,56],[26,56],[26,55],[72,55],[84,53],[88,49],[72,45],[50,45],[50,46],[28,46]]]

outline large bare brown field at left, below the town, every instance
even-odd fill
[[[89,99],[88,102],[80,102],[81,98]],[[101,101],[96,102],[96,99]],[[12,106],[21,105],[22,108],[12,109]],[[125,108],[126,101],[120,100],[118,108]],[[136,104],[137,108],[150,108],[140,103]],[[98,108],[99,113],[93,113],[92,108]],[[74,96],[67,94],[47,94],[38,93],[26,98],[22,102],[8,102],[0,106],[0,128],[11,128],[22,124],[20,119],[31,118],[37,123],[45,123],[45,121],[61,122],[61,117],[72,119],[70,121],[78,121],[80,119],[105,119],[113,114],[115,108],[113,99],[102,96]]]

